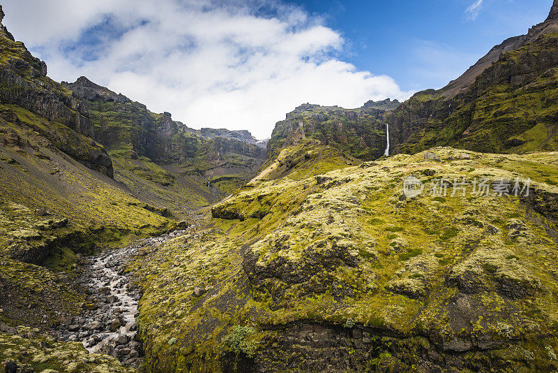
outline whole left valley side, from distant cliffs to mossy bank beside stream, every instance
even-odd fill
[[[4,360],[36,351],[35,369],[65,370],[66,356],[76,372],[133,371],[49,335],[88,302],[78,281],[84,257],[186,228],[193,211],[256,175],[266,149],[246,131],[223,131],[203,136],[84,77],[54,82],[0,23]]]

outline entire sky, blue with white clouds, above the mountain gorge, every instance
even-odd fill
[[[552,0],[3,0],[47,62],[195,129],[268,138],[301,103],[360,107],[444,87]]]

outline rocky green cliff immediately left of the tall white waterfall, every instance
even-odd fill
[[[268,143],[270,159],[294,145],[297,136],[319,140],[363,161],[378,159],[386,148],[384,110],[301,105],[278,122]]]

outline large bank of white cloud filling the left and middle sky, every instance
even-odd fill
[[[301,103],[409,96],[388,76],[335,57],[338,32],[276,0],[7,0],[3,8],[8,29],[55,80],[86,75],[195,128],[264,138]]]

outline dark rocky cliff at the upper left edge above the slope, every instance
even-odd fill
[[[0,22],[3,12],[0,8]],[[86,105],[68,89],[47,78],[45,62],[31,56],[25,45],[0,27],[0,102],[6,122],[16,125],[17,108],[29,110],[47,121],[63,126],[33,126],[51,145],[73,156],[89,168],[112,177],[112,161],[102,146],[82,138],[93,137],[93,124]],[[6,106],[8,105],[8,106]],[[12,106],[13,105],[13,106]]]

